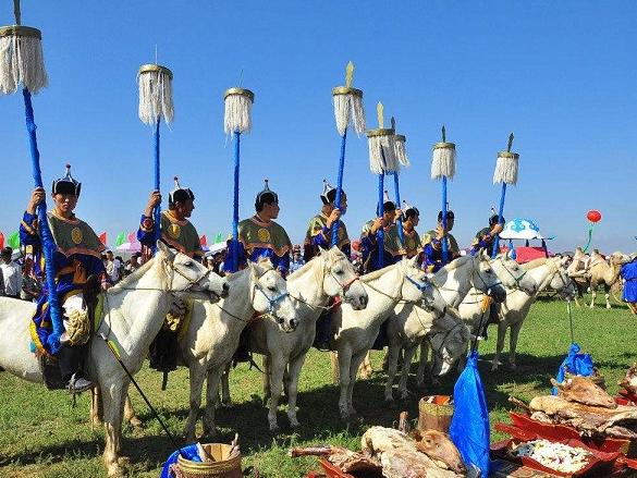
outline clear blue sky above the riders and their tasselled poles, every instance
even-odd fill
[[[12,4],[0,4],[2,24]],[[232,147],[224,89],[256,94],[242,140],[241,216],[269,177],[279,222],[299,242],[323,177],[335,182],[340,138],[331,88],[348,60],[367,121],[381,100],[407,136],[402,196],[433,225],[440,184],[429,177],[442,123],[457,144],[450,185],[456,237],[468,245],[497,206],[491,177],[511,131],[519,182],[505,217],[537,220],[555,249],[585,242],[585,213],[603,220],[595,245],[635,250],[637,3],[635,1],[109,1],[23,0],[42,30],[50,85],[34,98],[42,173],[70,161],[83,185],[76,210],[110,242],[134,231],[152,186],[151,132],[137,118],[136,72],[174,72],[175,121],[162,131],[162,191],[177,174],[194,189],[192,218],[209,238],[229,231]],[[33,187],[21,96],[0,98],[0,231],[17,229]],[[373,216],[367,142],[351,135],[345,188],[351,235]]]

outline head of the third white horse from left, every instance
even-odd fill
[[[329,250],[321,250],[323,259],[322,286],[330,297],[339,296],[355,310],[363,310],[367,307],[369,297],[367,291],[358,280],[358,274],[347,260],[347,257],[333,246]]]

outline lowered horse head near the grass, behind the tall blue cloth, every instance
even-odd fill
[[[434,320],[428,336],[432,351],[431,375],[440,377],[449,372],[466,355],[470,339],[469,328],[460,318],[446,314]]]

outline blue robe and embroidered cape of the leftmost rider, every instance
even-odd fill
[[[105,246],[93,229],[75,217],[64,219],[53,210],[48,212],[48,220],[58,246],[53,253],[53,266],[56,269],[56,293],[60,305],[62,305],[68,297],[82,292],[89,275],[97,275],[101,282],[108,281],[101,260]],[[32,249],[34,272],[42,281],[41,295],[30,323],[30,335],[36,346],[36,353],[50,355],[52,350],[49,336],[53,329],[49,309],[49,290],[45,280],[45,256],[37,230],[37,216],[25,212],[20,224],[20,241]]]

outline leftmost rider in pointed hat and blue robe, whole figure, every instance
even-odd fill
[[[84,221],[75,217],[73,210],[77,205],[82,184],[71,175],[71,166],[66,164],[66,174],[53,181],[51,196],[53,208],[48,211],[48,222],[56,242],[53,267],[56,270],[56,291],[49,291],[46,282],[37,303],[30,327],[32,340],[36,354],[49,357],[51,346],[49,336],[52,332],[49,294],[58,294],[64,314],[64,333],[60,338],[61,348],[57,354],[61,378],[73,393],[93,388],[85,376],[84,361],[88,353],[90,333],[86,286],[95,277],[102,289],[110,286],[101,253],[105,246],[97,234]],[[34,254],[36,274],[45,277],[44,252],[38,235],[36,208],[45,200],[45,189],[37,187],[32,193],[20,225],[20,240]],[[88,282],[88,283],[87,283]],[[46,368],[45,368],[46,369]],[[46,375],[46,372],[45,372]]]

